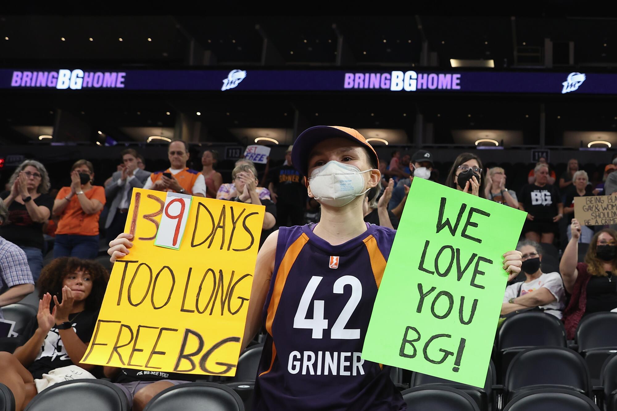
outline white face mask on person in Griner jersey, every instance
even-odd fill
[[[315,200],[329,206],[342,207],[369,190],[364,189],[366,182],[362,174],[371,170],[360,171],[356,166],[328,161],[311,173],[310,190]]]

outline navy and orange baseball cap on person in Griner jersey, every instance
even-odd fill
[[[309,155],[313,147],[323,140],[334,139],[336,137],[347,139],[366,147],[366,151],[371,158],[375,160],[375,164],[377,168],[379,168],[379,158],[377,157],[375,149],[366,142],[364,136],[357,130],[341,126],[315,126],[302,131],[296,141],[294,141],[294,148],[291,152],[291,162],[297,171],[307,176],[309,172]]]

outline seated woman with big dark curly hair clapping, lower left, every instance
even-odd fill
[[[0,383],[13,392],[16,410],[37,394],[35,379],[67,365],[81,364],[101,308],[109,272],[96,261],[61,257],[41,271],[38,314],[25,335],[28,340],[13,354],[0,352]]]

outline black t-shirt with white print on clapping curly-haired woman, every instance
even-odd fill
[[[73,324],[73,330],[75,330],[79,339],[86,344],[92,338],[98,314],[96,311],[82,311],[68,316],[68,320]],[[38,322],[35,316],[30,320],[30,324],[26,328],[27,333],[24,333],[24,341],[32,338],[36,328],[38,328]],[[36,359],[27,368],[33,378],[43,378],[43,373],[49,373],[51,370],[67,367],[67,365],[73,365],[73,362],[68,357],[67,349],[64,348],[60,338],[60,332],[54,325],[45,336],[43,346],[41,346],[41,351],[39,351]]]

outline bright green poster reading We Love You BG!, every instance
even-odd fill
[[[483,387],[526,213],[413,179],[362,358]]]

